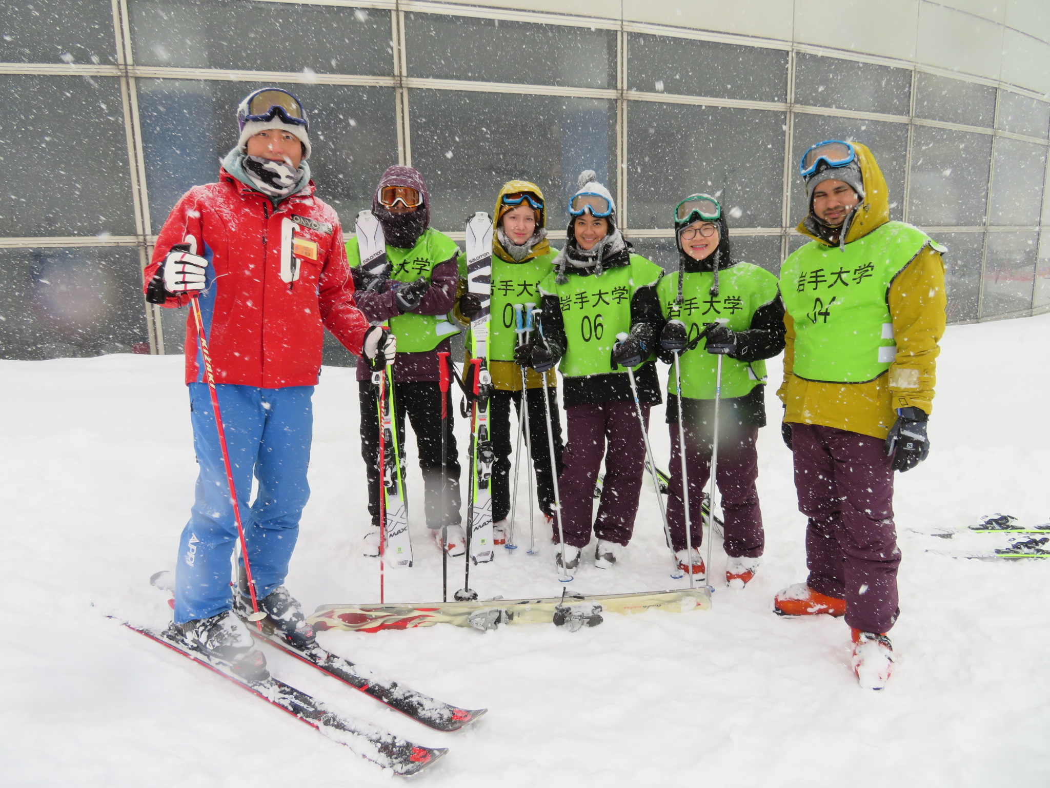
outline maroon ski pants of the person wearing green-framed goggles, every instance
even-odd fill
[[[688,413],[688,410],[687,410]],[[686,505],[681,497],[681,452],[678,443],[678,422],[668,424],[671,431],[671,483],[668,485],[667,519],[671,526],[671,546],[686,548]],[[686,472],[689,478],[689,521],[694,547],[700,545],[704,531],[700,505],[704,492],[711,478],[711,427],[690,423],[687,416]],[[718,470],[715,482],[721,495],[722,514],[726,517],[726,554],[734,558],[762,555],[765,534],[762,531],[762,513],[758,507],[758,439],[757,427],[731,424],[718,435]]]

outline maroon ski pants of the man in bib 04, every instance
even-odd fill
[[[900,613],[892,458],[885,441],[834,427],[792,424],[808,586],[846,600],[846,623],[885,633]]]

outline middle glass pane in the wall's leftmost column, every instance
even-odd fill
[[[133,235],[120,82],[0,75],[0,235]]]

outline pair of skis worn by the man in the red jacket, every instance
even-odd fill
[[[159,572],[150,579],[150,582],[158,588],[170,592],[173,580],[173,573]],[[250,615],[250,610],[238,608],[236,611],[245,620],[247,626],[253,630],[256,640],[273,646],[300,662],[312,665],[321,672],[376,699],[388,708],[400,711],[428,728],[440,731],[459,730],[486,712],[486,709],[459,708],[429,698],[398,682],[383,680],[320,646],[309,650],[298,648],[274,629],[273,622],[269,618],[260,620],[256,625],[255,622],[249,620],[255,618]],[[174,625],[164,630],[127,622],[124,622],[124,625],[238,684],[333,741],[342,744],[361,758],[391,769],[395,774],[402,776],[415,774],[433,765],[448,751],[442,747],[424,747],[414,744],[377,726],[333,712],[313,696],[274,678],[269,671],[262,678],[240,676],[229,665],[210,660],[206,655],[190,647],[174,628]]]

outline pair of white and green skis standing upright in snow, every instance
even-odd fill
[[[372,211],[357,214],[355,227],[361,270],[370,287],[379,286],[391,276],[386,241],[382,225]],[[488,324],[492,281],[492,221],[479,212],[466,222],[467,291],[481,300],[481,311],[470,322],[470,350],[474,369],[472,413],[470,419],[470,504],[467,515],[467,578],[462,592],[469,594],[469,563],[491,561],[496,557],[492,540],[491,477],[495,453],[488,422]],[[373,373],[378,389],[379,451],[382,470],[380,555],[395,566],[412,566],[412,539],[408,535],[408,510],[404,490],[401,451],[395,428],[394,375],[387,367]],[[442,429],[444,426],[442,426]],[[442,469],[444,472],[444,469]]]

